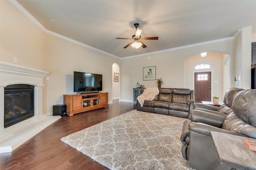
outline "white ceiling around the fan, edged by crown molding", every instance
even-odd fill
[[[256,0],[17,0],[46,29],[117,57],[232,37],[256,25]],[[51,19],[56,21],[52,22]],[[131,46],[139,23],[146,48]],[[252,33],[256,33],[253,26]]]

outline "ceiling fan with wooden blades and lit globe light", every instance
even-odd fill
[[[141,40],[157,40],[158,39],[158,37],[144,37],[144,38],[142,38],[140,36],[142,30],[137,29],[138,25],[140,25],[140,24],[134,23],[134,26],[136,28],[136,34],[132,35],[132,38],[116,38],[116,39],[132,39],[133,40],[132,42],[130,42],[129,44],[124,46],[124,49],[126,49],[129,45],[132,45],[132,47],[136,48],[136,49],[138,49],[140,47],[146,48],[147,46],[144,43],[142,43]]]

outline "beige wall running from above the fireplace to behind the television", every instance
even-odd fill
[[[49,72],[44,78],[43,113],[73,93],[73,72],[103,74],[103,90],[112,102],[112,64],[120,59],[45,33],[9,1],[1,1],[0,61]],[[17,57],[17,63],[13,57]]]

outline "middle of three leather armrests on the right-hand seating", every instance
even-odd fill
[[[192,110],[190,111],[190,119],[195,122],[205,123],[221,128],[226,116],[217,115],[202,110]]]

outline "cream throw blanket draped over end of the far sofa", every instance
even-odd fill
[[[142,107],[144,104],[144,100],[153,100],[158,94],[159,90],[157,87],[149,87],[146,88],[140,96],[138,96],[137,100]]]

